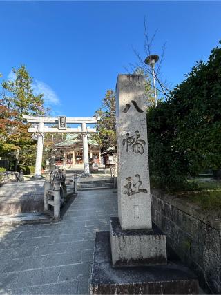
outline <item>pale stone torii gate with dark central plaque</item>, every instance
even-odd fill
[[[83,159],[84,175],[90,175],[88,158],[88,135],[87,133],[96,133],[95,128],[87,127],[86,124],[95,124],[99,117],[35,117],[22,115],[27,122],[38,124],[30,127],[28,132],[35,133],[32,138],[37,140],[37,155],[35,162],[35,178],[41,177],[41,162],[43,155],[44,133],[81,133],[83,135]],[[48,127],[44,124],[57,124],[57,127]],[[70,128],[66,124],[81,124],[81,128]]]

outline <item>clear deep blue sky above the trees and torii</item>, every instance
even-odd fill
[[[153,53],[166,41],[162,75],[182,82],[221,39],[220,1],[1,1],[0,73],[25,64],[52,115],[86,117],[117,75],[144,58],[144,17]]]

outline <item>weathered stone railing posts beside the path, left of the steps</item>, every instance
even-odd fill
[[[61,206],[66,198],[66,175],[63,169],[54,169],[46,173],[44,184],[44,211],[52,211],[55,219],[60,218]],[[51,210],[52,209],[52,210]]]

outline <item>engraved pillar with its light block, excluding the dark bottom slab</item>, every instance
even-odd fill
[[[166,263],[166,236],[152,232],[144,91],[143,75],[119,75],[116,99],[119,220],[111,218],[113,265]]]

